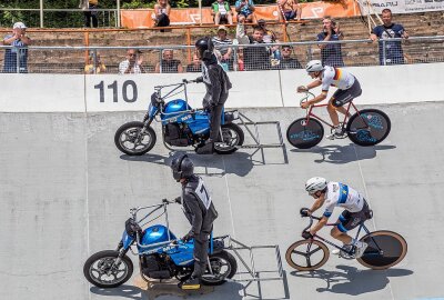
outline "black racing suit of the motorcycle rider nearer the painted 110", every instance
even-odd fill
[[[206,88],[202,106],[210,113],[210,139],[220,141],[221,114],[232,84],[214,54],[211,56],[211,59],[203,60],[202,77],[198,81],[203,81]]]

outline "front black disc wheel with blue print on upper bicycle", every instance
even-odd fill
[[[286,130],[286,139],[299,149],[309,149],[316,146],[324,137],[324,127],[320,121],[301,118],[293,121]]]

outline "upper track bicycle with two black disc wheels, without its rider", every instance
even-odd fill
[[[314,98],[314,94],[305,92],[301,104],[309,98]],[[326,106],[329,104],[310,106],[304,118],[296,119],[289,126],[286,139],[293,147],[309,149],[316,146],[324,137],[322,123],[330,127],[331,132],[335,130],[330,121],[325,121],[313,112],[315,108]],[[353,101],[346,103],[345,108],[346,113],[341,122],[342,132],[344,132],[342,138],[349,137],[352,142],[365,147],[377,144],[389,136],[392,126],[389,116],[383,111],[377,109],[359,110]],[[353,116],[351,114],[352,108],[355,111]]]

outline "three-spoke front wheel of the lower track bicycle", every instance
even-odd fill
[[[286,262],[299,271],[312,271],[321,268],[329,260],[326,246],[316,240],[300,240],[285,252]]]

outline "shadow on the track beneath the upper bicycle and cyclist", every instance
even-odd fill
[[[373,159],[376,157],[377,151],[395,149],[396,146],[376,144],[373,147],[361,147],[354,143],[347,146],[330,144],[324,147],[314,147],[312,149],[292,149],[292,152],[312,152],[321,154],[320,159],[314,162],[322,163],[336,163],[343,164],[359,160]]]

